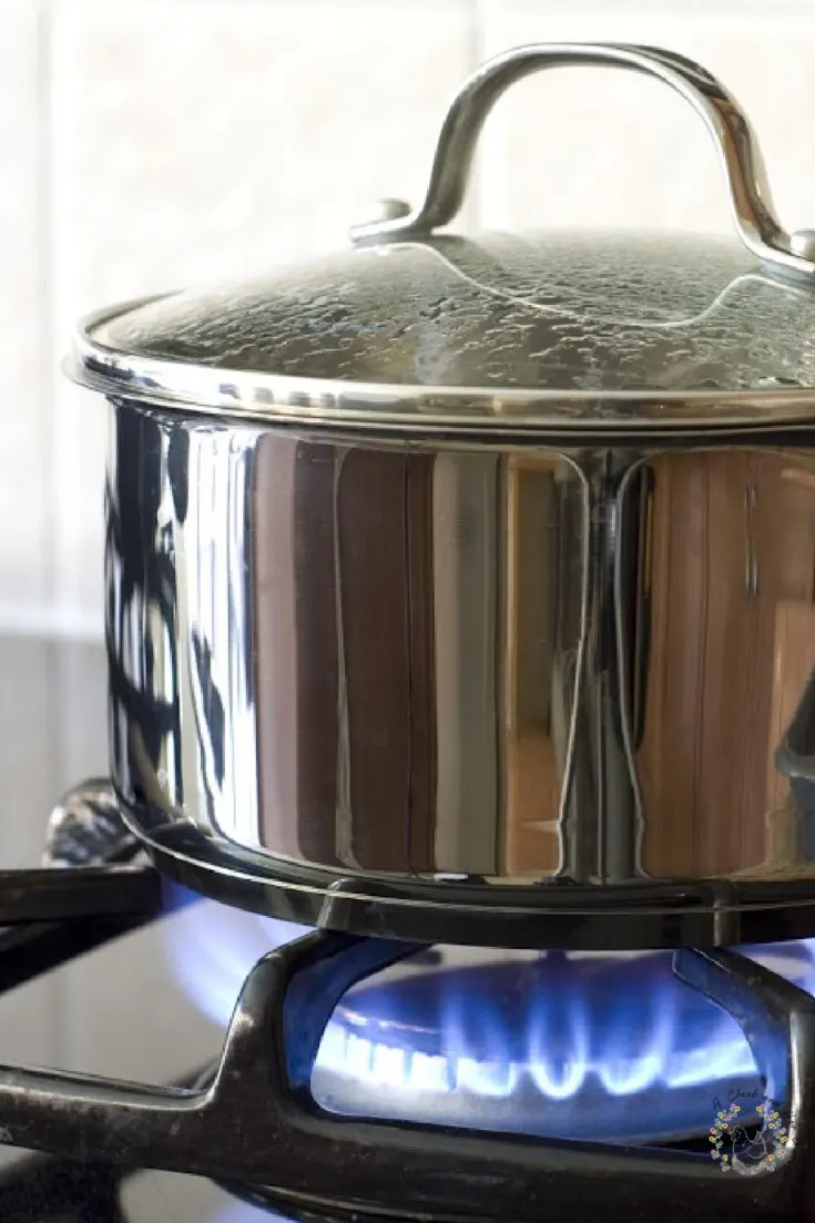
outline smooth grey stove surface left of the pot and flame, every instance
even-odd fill
[[[54,801],[78,778],[105,773],[104,652],[86,642],[0,637],[0,862],[37,866]],[[177,982],[168,927],[179,920],[184,914],[0,997],[0,1062],[149,1084],[184,1079],[210,1063],[223,1032]],[[202,1178],[0,1150],[2,1223],[273,1217]]]

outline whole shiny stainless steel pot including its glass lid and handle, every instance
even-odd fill
[[[569,64],[690,102],[740,241],[437,232],[496,98]],[[738,105],[664,51],[510,51],[423,205],[352,237],[77,338],[128,826],[202,892],[361,933],[815,933],[815,238]]]

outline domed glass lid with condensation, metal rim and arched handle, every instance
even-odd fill
[[[717,142],[738,237],[438,232],[496,98],[563,64],[628,67],[682,93]],[[71,372],[152,404],[408,433],[815,418],[815,236],[783,232],[746,119],[678,56],[579,44],[499,56],[454,100],[422,207],[384,201],[351,237],[306,265],[97,314]]]

